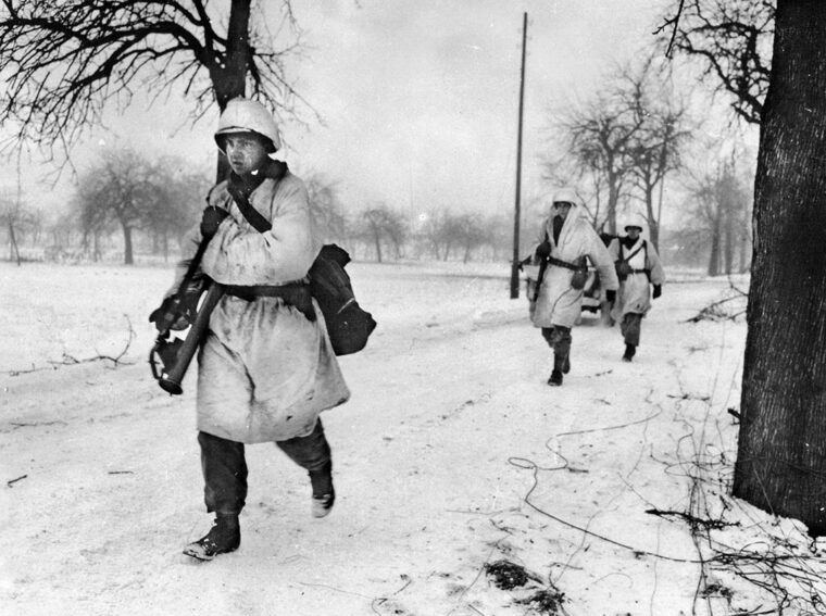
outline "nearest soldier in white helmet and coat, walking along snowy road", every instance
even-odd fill
[[[280,147],[273,116],[258,102],[234,99],[215,141],[231,174],[210,191],[173,286],[208,239],[200,269],[225,286],[198,357],[198,442],[206,511],[215,521],[184,550],[202,561],[240,544],[245,444],[275,442],[308,470],[312,515],[329,513],[333,463],[318,415],[350,397],[306,285],[322,241],[304,184],[270,156]],[[272,224],[270,231],[250,223],[255,213]]]

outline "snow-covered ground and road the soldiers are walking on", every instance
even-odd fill
[[[0,614],[822,613],[802,525],[727,495],[746,326],[688,319],[728,280],[666,285],[631,364],[586,316],[551,389],[506,265],[349,271],[379,325],[324,414],[334,512],[249,447],[241,546],[198,563],[195,370],[146,361],[171,271],[0,264]]]

